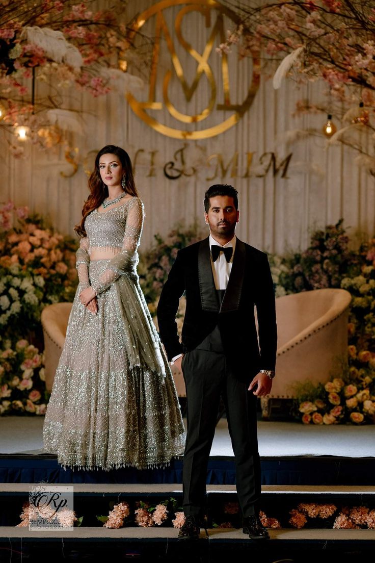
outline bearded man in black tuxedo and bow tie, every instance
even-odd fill
[[[236,462],[243,533],[251,539],[268,539],[259,519],[256,400],[269,394],[274,376],[277,330],[273,282],[266,254],[234,234],[239,217],[237,190],[228,185],[211,186],[204,205],[210,236],[178,252],[157,307],[168,359],[182,370],[186,383],[185,524],[179,538],[197,538],[200,533],[207,463],[222,395]],[[184,292],[186,312],[180,343],[175,316]]]

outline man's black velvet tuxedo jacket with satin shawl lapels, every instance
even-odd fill
[[[175,318],[183,293],[186,312],[180,342]],[[221,306],[207,237],[178,252],[161,292],[157,320],[169,360],[193,350],[218,325],[228,362],[238,378],[250,381],[259,369],[275,369],[277,328],[268,258],[238,238]]]

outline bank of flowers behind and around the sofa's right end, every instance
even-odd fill
[[[342,223],[315,231],[303,252],[270,257],[277,295],[341,287],[352,296],[348,363],[324,386],[295,386],[293,412],[305,424],[375,423],[375,239],[350,250]]]

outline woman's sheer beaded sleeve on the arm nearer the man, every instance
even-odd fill
[[[143,226],[143,203],[138,198],[133,198],[129,205],[126,217],[125,233],[121,251],[116,254],[100,276],[98,281],[92,285],[94,291],[102,293],[109,288],[121,275],[137,273],[138,246],[141,239]]]

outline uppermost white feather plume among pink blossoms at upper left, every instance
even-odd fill
[[[83,65],[82,56],[78,48],[66,41],[64,34],[54,29],[39,28],[38,26],[26,27],[22,32],[27,40],[41,47],[46,55],[56,62],[66,62],[74,68]]]

